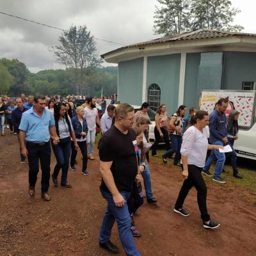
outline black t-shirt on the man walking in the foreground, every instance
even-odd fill
[[[132,129],[129,129],[127,134],[123,134],[115,125],[112,125],[99,141],[100,161],[113,161],[110,170],[118,191],[131,192],[138,173],[138,163],[132,141],[136,141],[136,135]],[[103,179],[100,189],[109,191]]]

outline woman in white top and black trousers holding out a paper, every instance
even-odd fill
[[[183,209],[183,204],[189,190],[195,186],[197,191],[197,202],[201,212],[204,228],[218,228],[220,223],[211,220],[206,205],[207,188],[202,177],[202,168],[205,164],[207,149],[223,148],[219,145],[209,145],[205,126],[209,124],[209,115],[206,111],[198,111],[191,117],[190,127],[183,135],[182,146],[180,149],[182,160],[182,175],[184,182],[180,189],[174,211],[182,216],[189,216]]]

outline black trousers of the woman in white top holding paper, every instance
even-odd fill
[[[188,179],[184,180],[183,185],[180,189],[175,209],[181,209],[189,190],[195,186],[197,191],[197,202],[201,212],[201,218],[203,221],[209,221],[210,216],[206,206],[207,188],[202,177],[202,168],[193,164],[188,164]]]

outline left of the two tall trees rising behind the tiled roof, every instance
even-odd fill
[[[189,6],[191,0],[157,0],[154,32],[172,36],[190,29]]]

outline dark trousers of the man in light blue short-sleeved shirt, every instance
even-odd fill
[[[26,147],[28,149],[29,185],[34,187],[36,184],[40,160],[42,169],[41,191],[42,193],[46,193],[49,189],[49,180],[51,172],[50,141],[42,146],[27,141]]]

